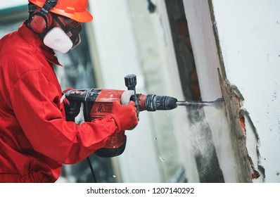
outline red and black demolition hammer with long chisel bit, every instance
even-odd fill
[[[120,100],[122,105],[127,105],[130,101],[134,101],[138,118],[139,112],[143,110],[172,110],[177,106],[213,106],[221,109],[224,101],[223,98],[217,98],[215,101],[189,102],[177,101],[177,98],[171,96],[136,94],[136,75],[125,76],[125,86],[127,90],[72,89],[65,91],[64,94],[68,101],[83,103],[84,121],[86,122],[91,122],[91,120],[110,114],[113,102],[117,100]],[[68,117],[67,114],[66,117]],[[75,121],[75,118],[69,119]],[[126,140],[125,131],[114,134],[106,146],[98,149],[95,153],[103,158],[120,155],[125,151]]]

